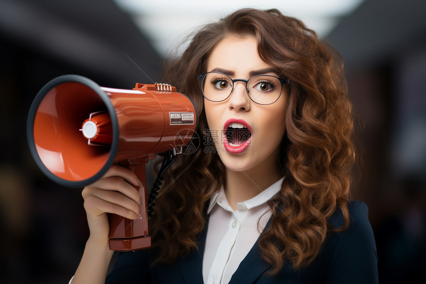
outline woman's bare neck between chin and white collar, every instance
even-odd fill
[[[226,198],[233,210],[236,210],[238,202],[255,197],[281,177],[278,165],[262,164],[264,163],[245,171],[226,169],[224,188]]]

